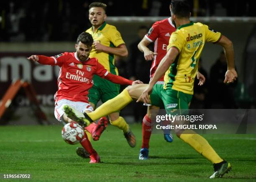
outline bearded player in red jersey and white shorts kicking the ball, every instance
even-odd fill
[[[60,67],[57,82],[58,91],[54,95],[54,115],[57,120],[64,123],[72,121],[63,111],[65,105],[72,106],[82,113],[93,111],[87,97],[88,91],[93,85],[93,75],[96,74],[101,78],[122,85],[142,83],[141,81],[131,81],[121,76],[113,75],[98,63],[97,58],[89,58],[92,43],[92,35],[83,32],[77,38],[75,53],[65,52],[52,57],[32,55],[28,58],[31,61],[37,61],[44,65],[56,65]],[[100,119],[98,124],[88,124],[84,129],[92,134],[94,140],[98,140],[106,126],[107,119],[104,117]],[[100,162],[100,157],[92,148],[86,133],[80,143],[89,152],[90,163]]]

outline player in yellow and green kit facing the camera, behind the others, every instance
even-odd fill
[[[93,37],[94,43],[90,53],[90,58],[97,58],[110,73],[118,75],[115,67],[115,55],[128,56],[128,51],[121,37],[121,34],[113,25],[105,22],[106,7],[104,3],[94,2],[89,5],[89,20],[92,27],[86,30]],[[120,85],[102,79],[95,75],[93,77],[93,87],[89,90],[89,102],[95,109],[98,101],[108,101],[119,94]],[[128,144],[135,147],[136,139],[123,117],[119,116],[119,111],[108,114],[110,124],[117,126],[123,131]]]

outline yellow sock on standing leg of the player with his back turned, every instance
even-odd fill
[[[187,133],[192,133],[194,131],[189,131]],[[213,164],[222,162],[223,159],[215,152],[215,150],[210,146],[205,138],[199,134],[181,134],[180,139],[193,147],[197,152],[202,154],[205,158],[210,160]]]

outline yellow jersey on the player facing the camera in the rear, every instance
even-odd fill
[[[123,38],[118,30],[113,25],[109,25],[104,22],[100,28],[93,32],[92,27],[86,30],[87,33],[92,35],[95,42],[100,42],[104,46],[118,47],[124,44]],[[92,48],[90,58],[97,58],[105,69],[110,73],[118,75],[118,69],[115,67],[115,55],[105,52],[96,52],[95,48]]]

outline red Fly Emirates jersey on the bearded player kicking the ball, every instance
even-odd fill
[[[93,75],[96,74],[105,78],[109,73],[97,58],[88,58],[81,62],[77,58],[77,53],[62,53],[54,58],[55,65],[60,68],[58,77],[58,91],[54,95],[54,100],[68,99],[70,101],[88,101],[88,91],[93,85]],[[56,103],[56,102],[55,102]]]

